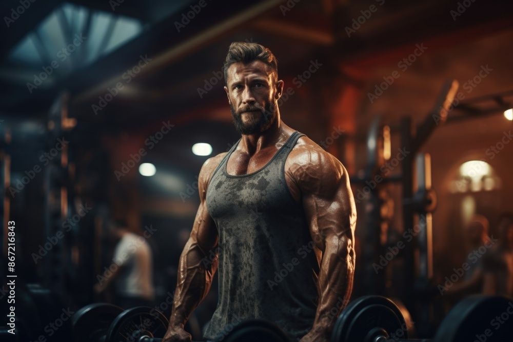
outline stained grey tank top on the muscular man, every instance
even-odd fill
[[[269,320],[293,340],[312,328],[319,261],[285,181],[285,160],[303,135],[294,132],[266,166],[245,175],[226,171],[235,144],[212,175],[206,205],[219,233],[219,301],[207,339],[245,318]]]

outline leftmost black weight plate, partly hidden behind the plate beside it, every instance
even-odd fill
[[[122,308],[105,303],[90,304],[76,311],[71,316],[73,342],[98,341],[122,312]]]

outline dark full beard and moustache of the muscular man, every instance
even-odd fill
[[[239,113],[236,112],[233,104],[230,104],[231,115],[233,116],[233,123],[235,129],[241,134],[255,134],[262,133],[268,130],[272,124],[276,121],[276,109],[275,105],[269,104],[262,107],[258,104],[252,106],[242,107]],[[249,120],[243,122],[242,114],[247,111],[259,111],[261,115],[248,115]]]

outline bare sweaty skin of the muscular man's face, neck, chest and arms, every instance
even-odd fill
[[[274,120],[268,128],[252,134],[242,134],[242,139],[227,163],[227,172],[242,175],[260,170],[282,147],[293,129],[280,119],[276,105],[283,91],[283,81],[266,64],[254,61],[234,63],[228,68],[225,91],[228,102],[240,115],[244,124],[260,120],[260,111],[244,112],[248,106],[275,108]],[[271,106],[271,107],[269,107]],[[269,112],[266,113],[270,115]],[[165,342],[190,341],[184,325],[206,296],[212,284],[218,260],[202,262],[218,245],[218,232],[207,212],[206,193],[216,167],[226,153],[209,158],[199,175],[200,206],[190,238],[182,252],[179,278],[174,296]],[[318,276],[319,304],[312,330],[300,342],[327,342],[334,321],[345,308],[352,291],[354,275],[354,228],[356,207],[349,177],[338,159],[303,136],[293,147],[285,163],[285,179],[294,199],[302,204],[309,225],[310,235],[316,244],[320,260]],[[234,237],[235,238],[235,237]],[[341,300],[342,299],[342,300]]]

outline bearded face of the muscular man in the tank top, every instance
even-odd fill
[[[235,129],[241,134],[261,133],[269,129],[278,116],[277,101],[283,81],[261,61],[237,62],[228,68],[224,88],[231,107]]]

